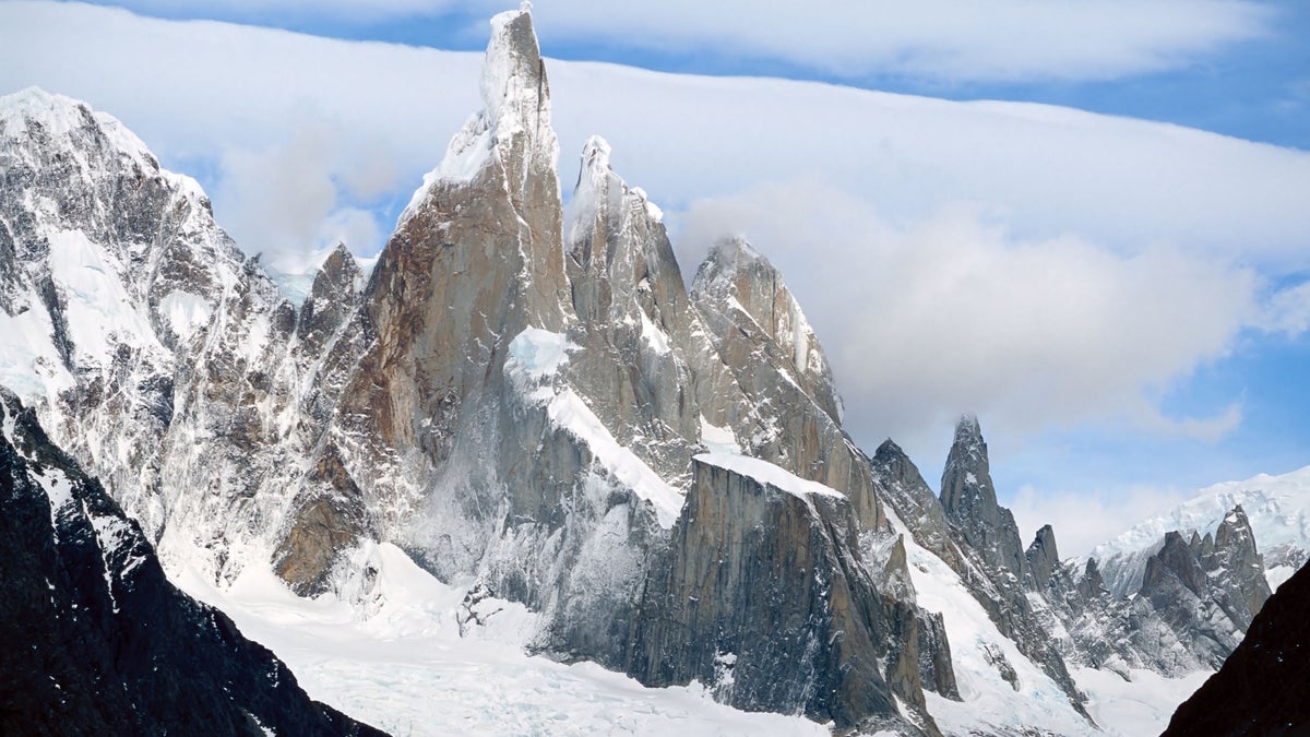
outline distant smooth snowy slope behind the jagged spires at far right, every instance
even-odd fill
[[[1091,557],[1100,564],[1111,590],[1120,595],[1136,593],[1146,559],[1159,549],[1165,532],[1213,534],[1237,505],[1242,505],[1255,532],[1269,589],[1277,589],[1305,564],[1310,551],[1310,466],[1280,476],[1260,473],[1246,481],[1201,489],[1172,510],[1096,546]]]

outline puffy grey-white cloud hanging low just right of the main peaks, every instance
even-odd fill
[[[1241,420],[1239,407],[1167,420],[1154,397],[1255,315],[1247,269],[1171,247],[1015,237],[976,207],[888,226],[876,202],[815,181],[697,202],[679,241],[728,233],[782,269],[866,445],[920,446],[964,409],[1002,435],[1096,417],[1214,439]]]

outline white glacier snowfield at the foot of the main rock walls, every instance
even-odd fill
[[[388,543],[358,555],[377,572],[371,601],[303,599],[258,567],[223,590],[193,572],[174,580],[272,649],[312,698],[393,734],[828,734],[718,704],[697,683],[646,688],[524,654],[536,615],[521,605],[466,603],[472,581],[441,584]]]

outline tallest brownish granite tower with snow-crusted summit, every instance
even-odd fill
[[[352,328],[364,354],[331,430],[380,528],[426,551],[443,576],[474,569],[504,521],[506,493],[521,501],[533,488],[500,473],[524,466],[517,454],[542,428],[507,407],[504,365],[529,327],[563,332],[569,294],[558,143],[528,13],[496,16],[482,92],[485,109],[379,257]],[[520,429],[534,437],[502,442]],[[456,468],[460,456],[483,460]]]

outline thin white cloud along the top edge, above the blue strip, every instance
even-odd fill
[[[169,0],[114,4],[145,13],[196,12]],[[219,20],[255,24],[322,17],[462,24],[470,14],[514,5],[504,0],[233,0],[207,12]],[[1264,35],[1275,13],[1251,0],[550,0],[537,5],[536,16],[552,45],[584,42],[776,60],[840,79],[907,76],[955,83],[1104,80],[1178,68]]]

